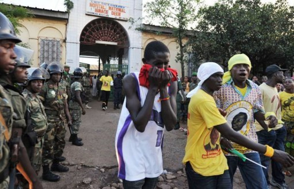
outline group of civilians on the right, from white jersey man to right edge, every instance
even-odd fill
[[[126,99],[115,140],[123,187],[155,188],[163,171],[163,132],[181,127],[182,107],[188,125],[183,163],[189,188],[233,188],[237,167],[246,188],[289,188],[285,171],[294,164],[293,78],[270,65],[258,86],[248,79],[248,56],[236,54],[227,72],[207,62],[193,73],[192,82],[188,77],[181,81],[168,66],[169,56],[163,43],[148,43],[140,72],[123,78]],[[278,93],[278,83],[285,93]]]

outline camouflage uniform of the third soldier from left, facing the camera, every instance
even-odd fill
[[[32,164],[38,175],[42,165],[44,135],[48,127],[47,117],[45,113],[45,108],[38,95],[34,97],[33,94],[27,89],[24,89],[24,92],[22,94],[24,95],[29,111],[31,112],[31,121],[37,134],[38,143],[35,145],[34,148]]]

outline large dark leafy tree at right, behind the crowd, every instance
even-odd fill
[[[198,11],[195,35],[189,41],[198,60],[216,61],[245,53],[252,73],[270,64],[293,70],[294,7],[286,0],[262,4],[260,0],[220,0]]]

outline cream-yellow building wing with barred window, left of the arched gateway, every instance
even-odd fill
[[[26,7],[34,16],[21,21],[19,38],[34,50],[32,67],[43,62],[65,63],[68,13]]]

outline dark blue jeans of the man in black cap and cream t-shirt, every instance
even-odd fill
[[[260,144],[267,144],[268,146],[273,147],[274,149],[277,150],[281,150],[281,151],[285,151],[285,137],[287,134],[286,131],[286,127],[283,126],[280,129],[277,130],[271,130],[270,132],[265,131],[265,130],[261,130],[256,132],[257,136],[258,136],[258,143]],[[261,160],[261,164],[263,166],[266,166],[267,170],[263,169],[265,178],[267,183],[269,183],[268,180],[268,167],[270,164],[270,158],[267,156],[264,156],[262,153],[259,153],[260,155],[260,160]],[[280,185],[282,185],[283,183],[285,183],[285,176],[282,173],[282,168],[283,166],[275,161],[271,161],[272,163],[272,176],[273,179],[279,183]]]

